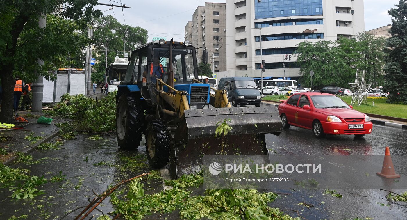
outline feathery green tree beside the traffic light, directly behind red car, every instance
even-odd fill
[[[327,85],[348,86],[351,77],[350,67],[344,57],[346,53],[336,47],[332,41],[309,42],[297,45],[297,62],[301,66],[301,82],[304,87],[311,86],[309,72],[314,71],[313,86],[320,88]]]

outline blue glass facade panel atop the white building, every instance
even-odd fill
[[[322,0],[254,0],[254,18],[322,15]]]

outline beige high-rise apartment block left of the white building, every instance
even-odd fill
[[[196,48],[205,46],[212,61],[214,71],[226,70],[226,4],[205,2],[205,7],[197,7],[192,21],[185,26],[185,40]],[[202,62],[202,50],[197,51],[198,63]],[[212,57],[213,55],[213,57]]]

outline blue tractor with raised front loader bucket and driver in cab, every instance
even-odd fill
[[[208,62],[206,50],[201,58]],[[265,133],[282,130],[276,107],[231,108],[226,90],[197,80],[196,48],[188,41],[144,44],[129,61],[116,97],[118,145],[134,150],[144,134],[149,164],[171,162],[173,178],[197,171],[202,155],[268,155]],[[233,130],[215,138],[225,119]]]

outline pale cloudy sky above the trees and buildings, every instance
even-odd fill
[[[204,6],[204,0],[99,0],[105,4],[126,4],[131,9],[99,6],[104,14],[114,16],[119,22],[147,29],[149,39],[153,37],[173,37],[184,41],[184,27],[192,20],[192,14],[198,6]],[[118,3],[117,3],[118,2]],[[209,2],[225,3],[226,0]],[[387,10],[394,7],[399,0],[364,0],[365,30],[375,29],[391,23]],[[110,9],[110,10],[109,10]],[[107,11],[106,11],[107,10]]]

